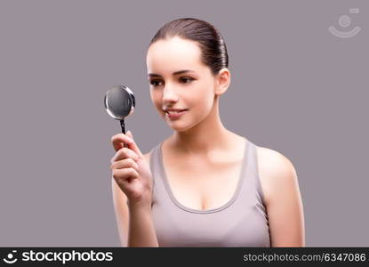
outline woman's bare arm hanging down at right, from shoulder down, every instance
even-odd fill
[[[305,247],[303,205],[293,164],[275,150],[258,152],[271,247]]]

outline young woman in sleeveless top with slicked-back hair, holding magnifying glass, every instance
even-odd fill
[[[228,63],[221,34],[204,20],[172,20],[148,45],[151,100],[173,134],[145,155],[131,132],[111,139],[122,246],[305,246],[291,161],[221,123]]]

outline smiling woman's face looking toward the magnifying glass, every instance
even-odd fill
[[[173,130],[188,130],[209,115],[215,78],[196,42],[178,36],[158,40],[149,46],[146,63],[151,100]],[[187,110],[171,118],[165,109]]]

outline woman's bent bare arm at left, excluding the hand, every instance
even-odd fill
[[[148,160],[149,155],[145,154],[144,156]],[[122,247],[158,247],[151,205],[132,206],[127,204],[127,197],[113,178],[112,192]]]

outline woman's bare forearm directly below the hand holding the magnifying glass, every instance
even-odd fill
[[[130,206],[128,247],[159,247],[151,206]]]

